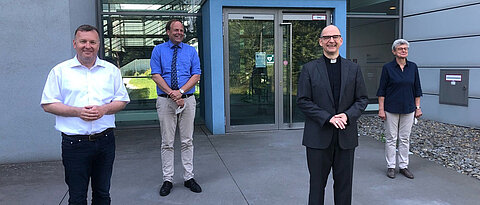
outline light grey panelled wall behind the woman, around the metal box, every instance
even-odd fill
[[[424,117],[480,127],[480,1],[405,0],[403,37],[411,42],[424,96]],[[439,103],[440,69],[468,69],[468,107]]]

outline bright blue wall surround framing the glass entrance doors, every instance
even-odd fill
[[[334,22],[346,36],[346,0],[207,0],[202,7],[205,124],[213,134],[225,133],[222,8],[334,8]],[[344,38],[345,40],[346,38]],[[346,43],[346,41],[344,41]],[[345,56],[345,47],[340,49]]]

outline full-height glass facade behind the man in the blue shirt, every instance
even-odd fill
[[[162,4],[163,2],[163,4]],[[116,115],[118,126],[158,125],[156,85],[151,79],[150,57],[155,45],[168,41],[166,24],[179,19],[187,43],[198,49],[200,1],[103,0],[101,24],[104,59],[117,65],[131,102]],[[198,86],[198,84],[197,84]],[[196,89],[197,119],[200,103]]]

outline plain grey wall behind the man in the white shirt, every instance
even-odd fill
[[[75,29],[96,24],[95,2],[0,1],[0,163],[60,159],[61,136],[41,94],[50,69],[75,54]]]

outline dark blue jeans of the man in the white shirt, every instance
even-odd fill
[[[115,159],[112,132],[95,141],[62,137],[62,159],[70,205],[86,205],[88,184],[92,182],[92,205],[110,204],[110,179]]]

